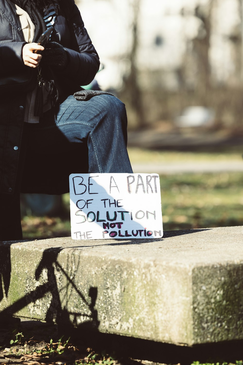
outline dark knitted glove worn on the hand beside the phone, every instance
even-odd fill
[[[62,70],[68,64],[68,53],[59,43],[48,42],[45,45],[44,51],[42,51],[41,64],[55,66]]]

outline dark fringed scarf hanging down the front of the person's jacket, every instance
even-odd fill
[[[28,15],[30,16],[31,21],[35,24],[35,35],[33,38],[33,43],[37,43],[38,39],[40,38],[40,35],[47,30],[46,23],[44,22],[44,8],[39,9],[36,7],[36,4],[34,1],[31,0],[7,0],[13,11],[15,12],[15,8],[13,7],[13,4],[18,5],[21,9],[26,11]],[[39,70],[39,68],[38,68]],[[50,68],[41,67],[41,74],[38,73],[38,84],[39,87],[37,89],[36,93],[36,100],[35,100],[35,116],[43,116],[43,92],[41,84],[45,83],[45,88],[48,91],[48,99],[51,101],[52,109],[54,111],[54,114],[56,115],[56,107],[57,107],[57,101],[58,101],[58,91],[54,85],[54,82],[52,81],[52,72]],[[45,80],[45,81],[44,81]],[[47,81],[48,80],[48,81]]]

